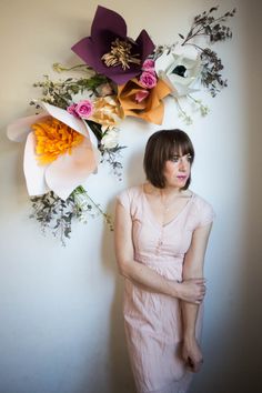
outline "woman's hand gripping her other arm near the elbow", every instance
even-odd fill
[[[200,304],[205,294],[204,279],[184,280],[178,284],[178,298],[189,303]]]

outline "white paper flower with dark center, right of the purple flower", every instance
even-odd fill
[[[165,83],[169,84],[175,98],[188,95],[198,91],[193,89],[193,84],[201,73],[201,59],[190,59],[183,54],[168,53],[167,51],[157,59],[155,71]]]

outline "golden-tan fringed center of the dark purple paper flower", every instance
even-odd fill
[[[110,52],[102,56],[101,60],[104,61],[107,67],[117,67],[122,66],[122,69],[125,71],[127,68],[130,68],[130,63],[140,64],[141,60],[137,59],[139,53],[131,53],[132,44],[127,41],[121,41],[117,38],[111,42]]]

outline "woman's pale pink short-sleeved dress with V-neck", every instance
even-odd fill
[[[164,226],[151,211],[142,185],[123,191],[118,200],[130,212],[134,260],[170,280],[181,280],[183,259],[193,231],[213,220],[211,205],[192,194],[183,210]],[[150,292],[125,279],[124,328],[139,393],[185,393],[192,373],[180,355],[181,304],[178,299]],[[196,332],[200,335],[202,308]]]

